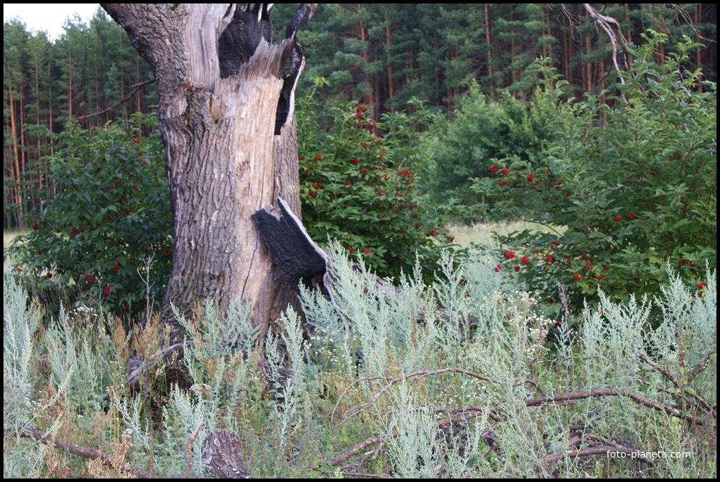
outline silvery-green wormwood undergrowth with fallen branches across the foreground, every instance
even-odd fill
[[[45,326],[5,273],[4,476],[203,476],[217,429],[263,478],[716,476],[715,272],[701,296],[670,270],[655,299],[547,319],[479,256],[397,289],[331,258],[333,301],[303,291],[305,318],[266,340],[240,303],[181,318],[191,386],[162,399],[163,383],[124,385],[130,354],[159,347],[156,319],[126,332],[76,309]]]

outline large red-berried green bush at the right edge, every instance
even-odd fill
[[[498,270],[551,302],[557,281],[580,306],[598,290],[657,294],[667,263],[693,283],[716,265],[716,86],[698,91],[701,73],[683,68],[693,43],[662,66],[652,52],[664,37],[648,39],[612,107],[600,96],[565,100],[567,82],[546,68],[537,96],[554,105],[544,118],[557,139],[532,158],[498,160],[474,186],[496,219],[554,229],[498,238]]]

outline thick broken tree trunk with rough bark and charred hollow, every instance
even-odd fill
[[[102,4],[148,60],[174,213],[173,271],[161,309],[169,341],[183,337],[171,311],[213,299],[251,304],[267,329],[294,296],[251,216],[278,196],[300,212],[294,87],[302,70],[300,4],[271,40],[269,4]]]

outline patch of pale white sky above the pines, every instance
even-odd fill
[[[63,32],[68,17],[78,14],[87,22],[100,4],[3,4],[3,22],[17,17],[34,31],[45,30],[50,40]]]

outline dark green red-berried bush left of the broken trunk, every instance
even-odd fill
[[[120,314],[161,298],[172,260],[170,202],[154,116],[91,132],[69,127],[48,158],[55,196],[11,248],[46,303],[95,302]]]

